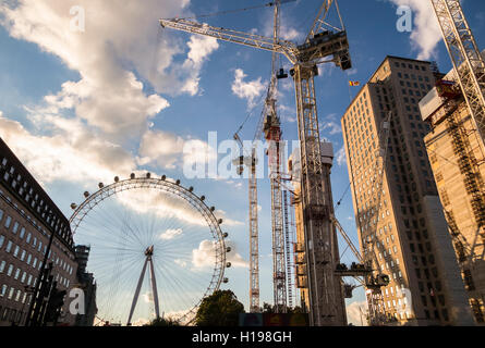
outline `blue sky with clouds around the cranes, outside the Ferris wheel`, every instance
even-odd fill
[[[282,35],[301,41],[319,0],[300,0],[282,8]],[[192,16],[263,4],[262,0],[19,0],[0,5],[0,136],[43,183],[70,216],[71,202],[84,190],[111,183],[133,171],[181,178],[218,208],[231,243],[248,260],[247,183],[244,179],[187,179],[183,164],[187,145],[205,149],[208,133],[231,139],[251,114],[241,137],[251,140],[270,78],[270,53],[228,42],[161,29],[158,18]],[[351,96],[348,80],[365,83],[387,54],[451,64],[436,30],[427,1],[341,0],[353,60],[347,73],[324,66],[316,80],[322,136],[342,151],[340,117]],[[413,10],[413,32],[396,28],[398,4]],[[85,30],[71,28],[73,7],[85,10]],[[485,4],[463,2],[478,46],[485,45]],[[211,16],[210,25],[270,35],[271,10]],[[438,33],[439,34],[439,33]],[[289,67],[284,59],[284,67]],[[351,92],[355,95],[357,89]],[[296,139],[294,94],[290,79],[280,86],[283,137]],[[204,153],[203,153],[204,154]],[[219,160],[225,157],[220,156]],[[344,158],[332,170],[337,202],[349,179]],[[268,182],[259,181],[262,302],[272,301],[271,228]],[[357,244],[351,195],[337,217]],[[341,247],[343,251],[344,247]],[[343,261],[352,261],[347,251]],[[241,262],[240,265],[243,265]],[[227,271],[229,285],[247,306],[248,271]],[[362,291],[350,302],[361,302]],[[355,322],[355,306],[352,318]]]

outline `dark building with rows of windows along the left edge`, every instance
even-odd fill
[[[25,324],[52,233],[51,275],[68,293],[59,324],[73,325],[69,290],[77,263],[69,221],[0,138],[0,326]]]

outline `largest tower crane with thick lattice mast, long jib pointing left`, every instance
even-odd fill
[[[337,26],[328,22],[336,8]],[[199,34],[216,39],[283,54],[292,64],[296,95],[296,116],[302,159],[302,202],[306,244],[306,273],[312,326],[345,325],[347,315],[340,278],[335,274],[338,263],[337,240],[331,223],[330,169],[323,164],[320,134],[315,94],[318,65],[335,63],[342,70],[352,67],[347,32],[337,0],[325,0],[303,45],[221,27],[213,27],[184,18],[160,20],[167,28]]]

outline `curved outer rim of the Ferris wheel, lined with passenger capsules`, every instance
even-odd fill
[[[118,177],[117,177],[118,178]],[[209,208],[205,203],[205,197],[194,194],[193,187],[185,188],[184,186],[180,185],[180,181],[177,181],[175,183],[170,182],[165,176],[162,178],[153,178],[150,176],[147,177],[134,177],[132,174],[131,178],[128,179],[118,179],[114,181],[113,184],[104,186],[102,184],[99,184],[99,189],[93,194],[89,195],[88,192],[85,192],[85,200],[74,209],[73,214],[71,215],[69,223],[71,225],[72,235],[74,236],[77,228],[80,227],[83,220],[87,216],[87,214],[95,209],[97,206],[99,206],[102,201],[106,199],[116,196],[120,192],[132,190],[132,189],[140,189],[140,188],[153,188],[153,189],[160,189],[161,191],[165,191],[167,194],[170,194],[172,196],[177,196],[183,200],[185,200],[189,204],[191,204],[193,208],[195,208],[198,213],[204,217],[207,226],[210,229],[210,233],[213,235],[213,238],[215,239],[216,245],[216,252],[215,252],[215,265],[214,265],[214,272],[213,277],[207,286],[204,295],[199,299],[199,301],[190,309],[183,316],[181,316],[179,320],[183,322],[183,320],[187,320],[186,325],[190,325],[195,320],[195,312],[201,306],[202,301],[209,295],[214,294],[220,288],[220,285],[222,282],[226,282],[225,279],[225,270],[227,266],[227,248],[226,248],[226,236],[227,234],[222,233],[222,229],[220,228],[220,224],[222,223],[222,220],[218,220],[216,215],[214,214],[215,208]],[[87,195],[86,195],[87,194]],[[191,319],[191,316],[193,316]]]

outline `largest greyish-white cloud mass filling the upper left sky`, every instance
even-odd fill
[[[160,17],[186,14],[189,3],[78,0],[86,29],[77,33],[70,29],[72,1],[19,0],[0,5],[0,25],[78,72],[80,80],[66,82],[45,98],[51,113],[74,109],[88,125],[125,139],[141,135],[149,120],[169,107],[159,95],[146,94],[142,78],[157,92],[198,92],[203,63],[218,49],[217,41],[193,36],[183,46],[180,36],[167,29],[161,34],[158,24]],[[183,62],[175,60],[185,52]]]

